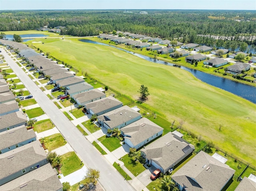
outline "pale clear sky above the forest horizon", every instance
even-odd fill
[[[58,9],[256,10],[256,0],[0,0],[0,10]]]

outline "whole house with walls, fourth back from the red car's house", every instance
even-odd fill
[[[123,103],[112,96],[102,98],[94,102],[90,102],[84,105],[84,110],[90,114],[96,114],[97,116],[110,112],[114,109],[120,108]]]

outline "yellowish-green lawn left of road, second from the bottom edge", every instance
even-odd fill
[[[60,133],[56,133],[48,137],[45,137],[45,140],[44,140],[44,145],[46,146],[48,151],[52,151],[56,148],[64,146],[66,143],[67,142],[64,140],[64,138]]]

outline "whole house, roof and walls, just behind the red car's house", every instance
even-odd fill
[[[121,129],[124,142],[131,148],[139,148],[148,144],[163,134],[163,128],[150,121],[148,118],[141,118],[132,124]]]

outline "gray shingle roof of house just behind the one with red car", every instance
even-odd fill
[[[150,121],[148,118],[141,118],[121,129],[124,134],[129,136],[125,138],[129,139],[134,146],[162,130],[162,127]]]

